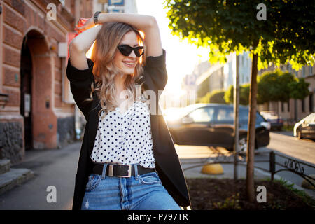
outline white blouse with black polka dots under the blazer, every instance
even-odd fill
[[[101,120],[91,159],[94,162],[111,162],[123,165],[139,163],[142,167],[155,167],[151,137],[150,110],[145,102],[136,100],[125,113],[120,108]]]

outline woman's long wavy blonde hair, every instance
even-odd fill
[[[120,70],[114,66],[113,59],[116,52],[118,52],[117,46],[123,39],[123,36],[130,31],[134,31],[137,34],[139,45],[144,46],[144,55],[139,59],[134,73],[128,75],[124,83],[125,89],[127,90],[127,99],[130,99],[129,96],[133,96],[135,100],[136,93],[138,93],[136,92],[136,83],[142,78],[141,74],[146,61],[146,46],[139,31],[132,25],[126,23],[106,22],[102,25],[94,43],[91,59],[94,62],[92,72],[94,74],[95,86],[92,82],[90,99],[85,99],[85,101],[92,101],[92,94],[96,92],[102,106],[98,115],[100,116],[102,111],[104,111],[102,118],[104,118],[109,111],[113,111],[116,106],[118,106],[115,103],[116,100],[114,97],[116,94],[114,78],[120,73]],[[143,83],[139,84],[137,87],[140,87],[142,93],[144,90]],[[143,101],[143,99],[140,100]]]

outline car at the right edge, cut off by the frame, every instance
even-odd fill
[[[294,125],[293,134],[298,139],[315,139],[315,113],[303,118]]]

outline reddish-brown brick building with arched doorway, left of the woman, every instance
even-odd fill
[[[95,1],[0,4],[0,160],[14,164],[29,148],[57,148],[75,139],[78,111],[59,48],[76,21],[94,13]]]

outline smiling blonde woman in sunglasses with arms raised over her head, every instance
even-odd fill
[[[158,97],[167,82],[165,50],[155,18],[97,12],[76,30],[80,34],[69,45],[66,74],[87,125],[73,209],[189,206],[165,120],[160,113],[150,113],[144,97],[145,91]],[[88,59],[85,53],[94,41]],[[151,100],[150,107],[155,106],[159,109],[158,98],[154,105]]]

